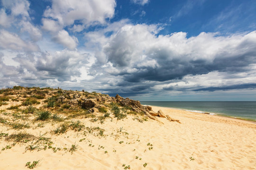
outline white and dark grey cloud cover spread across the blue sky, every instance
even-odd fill
[[[256,31],[160,34],[163,24],[110,22],[115,7],[115,0],[53,0],[35,25],[27,0],[2,0],[0,87],[60,86],[149,97],[255,91]],[[177,16],[182,15],[180,10]],[[41,50],[49,42],[55,46]]]

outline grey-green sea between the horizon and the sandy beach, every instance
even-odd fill
[[[145,102],[143,105],[170,107],[194,112],[207,112],[256,121],[256,102]]]

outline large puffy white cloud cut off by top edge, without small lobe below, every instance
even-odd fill
[[[114,16],[115,6],[115,0],[53,0],[44,17],[54,18],[62,26],[73,25],[76,20],[83,25],[105,24],[106,18]]]

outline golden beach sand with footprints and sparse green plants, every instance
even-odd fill
[[[97,128],[53,135],[51,131],[61,124],[53,122],[42,127],[34,123],[19,131],[0,125],[0,133],[46,133],[53,142],[50,148],[49,144],[38,145],[39,150],[27,150],[33,145],[27,142],[0,151],[1,170],[26,170],[28,161],[37,160],[37,170],[255,170],[255,123],[185,110],[152,109],[162,110],[181,123],[164,118],[158,118],[164,124],[152,119],[141,123],[134,115],[106,119],[103,124],[84,118],[72,120],[91,129],[104,129],[102,136]],[[1,139],[0,148],[11,144]],[[70,152],[72,144],[77,147],[74,152]]]

